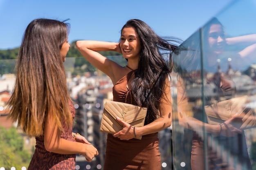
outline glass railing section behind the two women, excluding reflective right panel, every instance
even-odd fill
[[[126,65],[126,60],[122,56],[108,56],[122,66]],[[16,60],[0,60],[0,103],[2,112],[6,113],[7,98],[11,95],[11,90],[15,83]],[[67,57],[64,62],[67,87],[70,96],[74,100],[76,108],[75,123],[73,132],[79,132],[85,136],[99,151],[99,155],[94,157],[92,162],[85,160],[85,157],[76,155],[76,170],[97,170],[103,169],[106,147],[106,133],[99,132],[101,115],[103,112],[104,99],[112,99],[112,82],[110,78],[101,71],[94,68],[84,57]],[[57,77],[56,77],[57,78]],[[2,93],[4,92],[4,93]],[[6,119],[7,114],[1,114],[0,118]],[[10,121],[5,121],[11,126]],[[6,125],[4,125],[6,126]],[[24,138],[24,147],[33,154],[35,146],[34,138],[29,138],[18,129]],[[168,128],[159,132],[159,150],[161,153],[163,170],[171,169],[171,130]],[[1,168],[1,165],[0,165]],[[11,168],[11,167],[5,167]],[[18,168],[16,167],[16,170]]]

